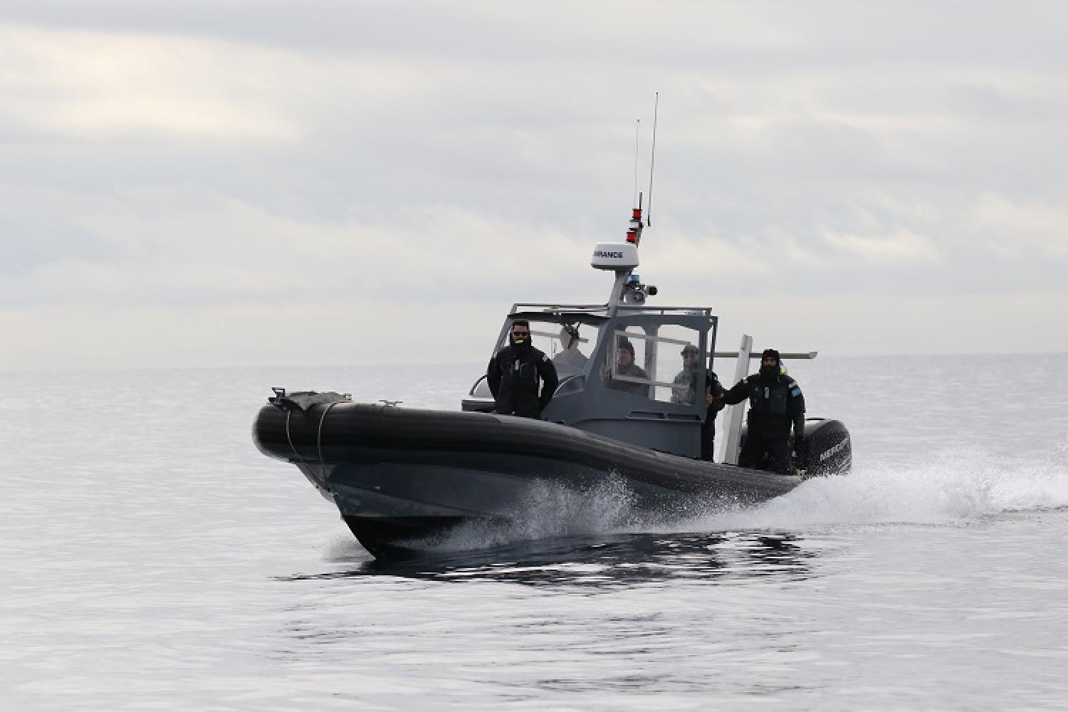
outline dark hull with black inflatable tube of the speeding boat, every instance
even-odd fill
[[[267,405],[253,437],[264,454],[297,464],[376,556],[464,523],[515,521],[565,500],[582,507],[607,492],[634,521],[749,506],[801,481],[541,421],[348,400]]]

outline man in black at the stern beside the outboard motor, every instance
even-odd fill
[[[794,425],[794,445],[800,449],[804,440],[804,396],[798,382],[783,373],[775,349],[766,349],[760,354],[760,373],[738,381],[724,394],[723,401],[734,406],[745,398],[749,398],[749,431],[738,464],[791,474],[790,425]]]

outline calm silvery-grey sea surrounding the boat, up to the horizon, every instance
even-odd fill
[[[252,420],[456,408],[475,366],[2,375],[0,707],[1065,709],[1063,363],[798,364],[849,477],[654,531],[547,492],[393,565]]]

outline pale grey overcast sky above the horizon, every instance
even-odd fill
[[[1068,3],[0,2],[0,369],[481,361],[603,301],[721,348],[1068,351]]]

